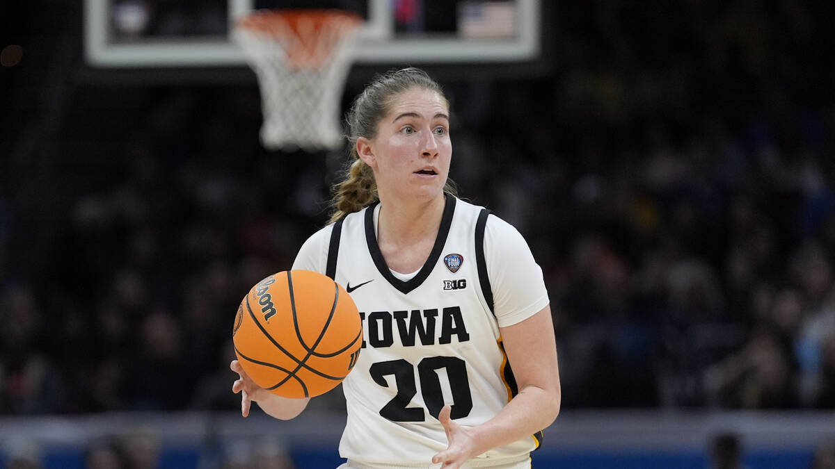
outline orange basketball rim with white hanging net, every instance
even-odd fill
[[[342,144],[340,103],[362,17],[342,10],[258,10],[235,23],[261,89],[261,143],[305,150]]]

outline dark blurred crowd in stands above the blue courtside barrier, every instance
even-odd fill
[[[443,83],[453,180],[543,269],[564,408],[835,408],[831,8],[559,3],[549,76]],[[260,124],[254,84],[82,83],[51,184],[0,171],[0,414],[238,408],[237,305],[347,158]]]

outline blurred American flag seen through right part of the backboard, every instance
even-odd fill
[[[516,35],[515,2],[462,2],[458,8],[458,33],[464,38]]]

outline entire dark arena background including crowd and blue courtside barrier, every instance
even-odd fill
[[[224,8],[127,3],[185,37]],[[0,8],[0,467],[337,466],[338,391],[244,420],[228,363],[344,150],[264,149],[245,65],[91,63],[85,5]],[[535,57],[411,63],[461,193],[544,271],[563,411],[534,466],[835,466],[832,5],[540,6]],[[343,110],[407,64],[357,63]]]

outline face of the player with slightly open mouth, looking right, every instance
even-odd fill
[[[397,95],[377,124],[377,136],[358,139],[357,152],[374,169],[382,197],[442,196],[453,154],[446,100],[424,88]]]

